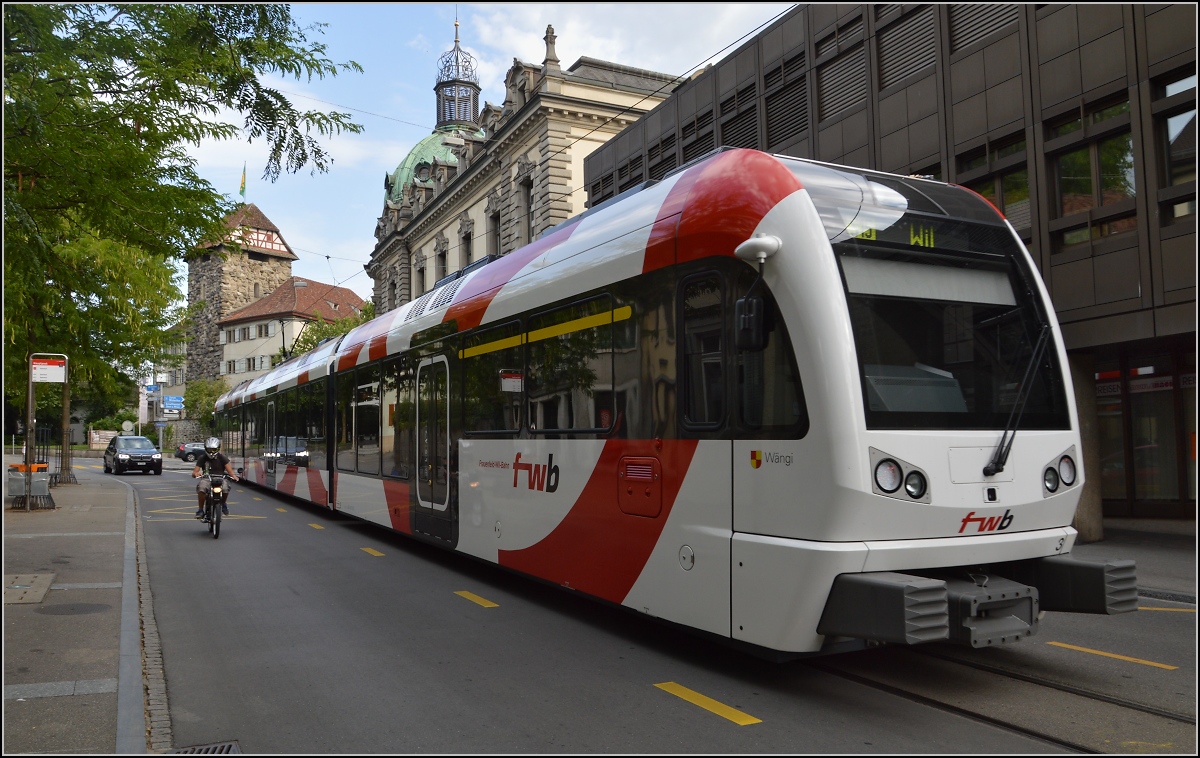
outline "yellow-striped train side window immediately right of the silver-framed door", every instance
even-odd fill
[[[466,432],[517,432],[524,393],[521,323],[463,338],[462,401]]]

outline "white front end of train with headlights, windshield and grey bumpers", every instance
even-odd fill
[[[1070,554],[1070,373],[1012,227],[961,187],[779,161],[803,192],[739,255],[788,326],[810,426],[736,443],[733,637],[978,648],[1046,610],[1136,609],[1133,561]]]

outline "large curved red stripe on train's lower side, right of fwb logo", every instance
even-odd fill
[[[696,440],[610,440],[592,477],[562,523],[541,542],[500,551],[498,563],[524,573],[623,602],[659,541],[676,495],[696,452]],[[623,456],[655,456],[662,462],[662,512],[629,516],[617,506],[617,465]],[[596,545],[606,546],[595,549]]]

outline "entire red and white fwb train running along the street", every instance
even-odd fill
[[[216,410],[248,481],[761,651],[1136,608],[1070,555],[1043,283],[953,185],[719,150]]]

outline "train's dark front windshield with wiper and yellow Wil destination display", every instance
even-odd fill
[[[1002,429],[1045,323],[1012,231],[961,188],[784,160],[841,269],[871,429]],[[1019,428],[1069,426],[1052,347]]]

